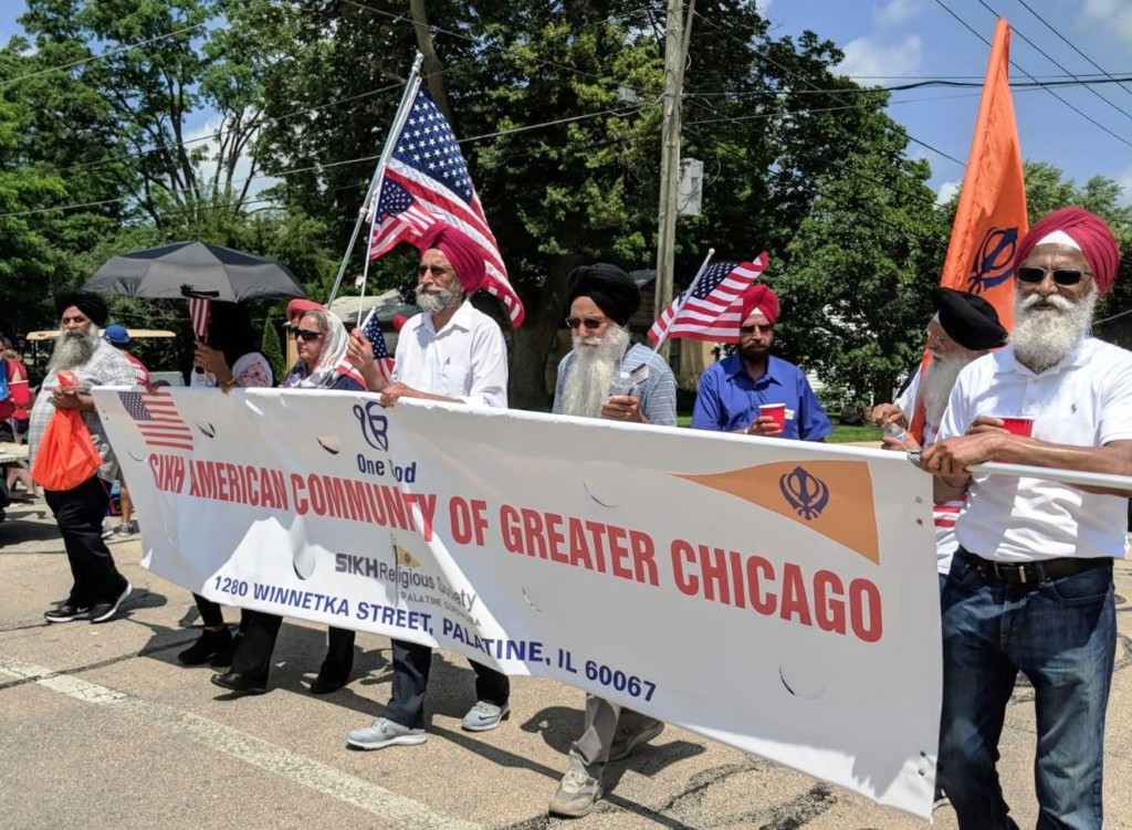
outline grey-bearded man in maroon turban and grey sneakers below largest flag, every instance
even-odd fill
[[[486,264],[479,246],[466,233],[444,222],[421,238],[417,269],[417,305],[397,336],[393,380],[386,383],[374,362],[374,350],[360,330],[351,333],[346,357],[392,407],[402,397],[507,405],[507,346],[498,324],[469,302],[483,283]],[[385,717],[346,737],[351,746],[380,750],[423,744],[424,694],[432,650],[428,645],[393,641],[393,698]],[[511,711],[506,675],[472,662],[477,702],[464,717],[469,731],[495,729]]]

